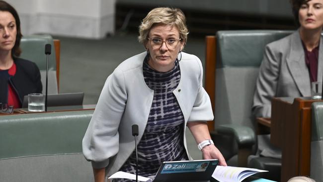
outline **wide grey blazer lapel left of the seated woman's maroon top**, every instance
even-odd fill
[[[321,47],[320,47],[321,53]],[[319,53],[319,54],[320,54]],[[302,96],[311,95],[311,81],[309,70],[305,63],[304,48],[302,46],[299,30],[293,33],[291,37],[291,50],[289,56],[286,58],[287,65],[291,75],[296,83],[298,90]],[[322,63],[321,63],[322,64]],[[320,67],[320,64],[319,64]],[[320,69],[319,69],[320,70]],[[321,78],[322,78],[322,73]],[[319,75],[319,74],[318,74]]]

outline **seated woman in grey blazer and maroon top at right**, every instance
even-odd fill
[[[271,117],[272,97],[311,96],[311,83],[322,82],[323,0],[291,3],[300,27],[266,46],[253,97],[255,117]]]

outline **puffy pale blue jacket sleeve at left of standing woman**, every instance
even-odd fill
[[[119,124],[127,100],[123,73],[106,80],[82,140],[83,155],[93,168],[104,168],[119,151]]]

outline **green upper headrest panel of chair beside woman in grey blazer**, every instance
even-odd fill
[[[217,32],[217,68],[256,67],[261,64],[265,46],[293,31],[229,30]]]

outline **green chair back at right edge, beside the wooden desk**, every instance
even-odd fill
[[[323,179],[323,102],[312,103],[311,178]]]

